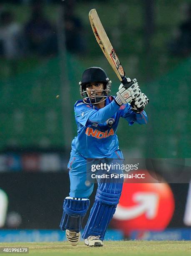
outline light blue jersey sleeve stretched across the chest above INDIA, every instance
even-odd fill
[[[83,102],[76,102],[74,106],[75,119],[83,126],[87,126],[88,123],[103,123],[108,118],[111,118],[118,110],[120,106],[114,102],[114,100],[99,110],[94,110],[90,105]]]

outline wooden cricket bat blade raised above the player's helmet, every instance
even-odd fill
[[[113,49],[113,46],[111,45],[111,42],[109,41],[106,31],[103,28],[98,13],[95,9],[90,10],[89,19],[94,36],[101,47],[103,54],[106,56],[106,59],[115,71],[118,79],[121,81],[125,77],[124,69]]]

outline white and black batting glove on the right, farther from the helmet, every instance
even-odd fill
[[[146,105],[148,104],[148,102],[149,102],[149,99],[140,90],[139,94],[133,100],[131,100],[131,109],[135,113],[141,113],[143,109],[146,107]]]

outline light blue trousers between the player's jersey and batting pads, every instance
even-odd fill
[[[106,158],[124,160],[121,150],[113,152],[113,154]],[[70,176],[70,197],[90,197],[93,192],[94,183],[87,182],[87,160],[80,155],[71,156],[68,162],[68,170]]]

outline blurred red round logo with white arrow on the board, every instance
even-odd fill
[[[168,184],[124,183],[111,225],[126,236],[133,230],[164,230],[173,212],[174,198]]]

